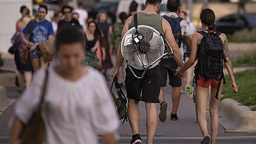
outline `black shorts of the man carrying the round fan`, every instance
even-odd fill
[[[132,68],[137,76],[141,76],[143,70],[136,70]],[[160,92],[160,66],[147,70],[142,79],[138,79],[132,75],[129,68],[125,68],[125,86],[127,97],[137,101],[157,103]],[[142,92],[141,92],[142,91]]]

